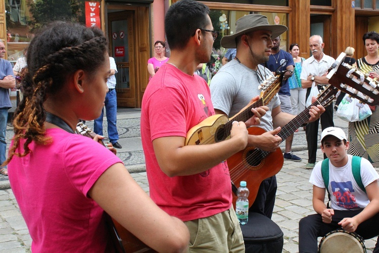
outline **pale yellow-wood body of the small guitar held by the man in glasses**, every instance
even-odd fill
[[[204,145],[225,140],[228,136],[224,126],[228,121],[229,118],[223,114],[204,119],[187,132],[185,145]]]

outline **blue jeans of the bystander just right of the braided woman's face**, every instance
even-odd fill
[[[115,144],[118,141],[118,132],[117,132],[117,97],[116,89],[107,93],[105,97],[105,109],[107,111],[107,122],[108,122],[108,138],[112,144]],[[103,117],[104,117],[104,108],[100,117],[94,120],[93,122],[93,132],[97,135],[103,135]]]

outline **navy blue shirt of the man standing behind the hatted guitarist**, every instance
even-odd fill
[[[276,59],[277,59],[277,63],[276,63]],[[280,64],[283,64],[283,66],[279,68]],[[268,68],[269,70],[271,70],[272,72],[274,72],[274,71],[286,70],[287,66],[289,65],[295,66],[295,63],[294,63],[294,58],[292,58],[292,55],[290,53],[283,50],[279,50],[279,53],[275,55],[270,55],[268,61],[262,65]],[[282,95],[291,96],[290,85],[288,83],[288,79],[282,81],[281,88],[278,93]]]

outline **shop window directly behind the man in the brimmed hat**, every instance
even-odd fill
[[[286,13],[211,10],[209,16],[212,20],[213,28],[215,31],[220,32],[213,44],[211,61],[207,63],[213,74],[217,73],[221,68],[221,60],[227,51],[227,49],[221,47],[221,38],[234,33],[235,21],[248,14],[261,14],[267,17],[270,24],[280,24],[288,27],[288,15]],[[287,32],[280,35],[280,39],[280,49],[287,51],[287,45],[291,44],[291,41],[288,41]]]

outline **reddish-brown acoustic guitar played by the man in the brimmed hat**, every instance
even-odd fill
[[[376,105],[379,103],[379,86],[376,80],[371,79],[366,73],[362,73],[343,62],[346,54],[341,53],[334,64],[329,68],[328,75],[331,84],[325,88],[312,105],[328,106],[336,98],[338,89],[349,93],[363,103]],[[363,75],[363,77],[362,77]],[[311,106],[312,106],[311,105]],[[310,107],[288,122],[277,134],[282,141],[309,119]],[[250,135],[261,135],[265,131],[259,127],[248,128]],[[233,202],[236,201],[237,187],[235,182],[247,181],[249,185],[249,207],[254,203],[259,185],[266,178],[276,175],[283,166],[283,155],[280,148],[274,152],[263,151],[255,147],[246,149],[232,155],[227,159],[230,179],[233,191]]]

